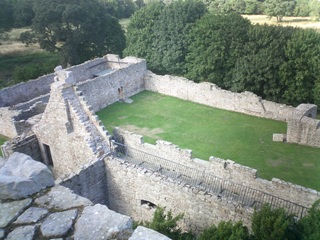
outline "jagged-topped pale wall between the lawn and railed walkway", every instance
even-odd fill
[[[180,149],[178,146],[165,141],[157,141],[156,145],[144,143],[141,135],[120,128],[115,128],[114,135],[118,137],[118,139],[121,138],[128,147],[183,164],[205,174],[211,174],[237,184],[251,187],[304,207],[309,208],[316,200],[320,199],[320,193],[313,189],[276,178],[273,178],[271,181],[261,179],[258,177],[256,169],[242,166],[232,160],[210,157],[209,161],[204,161],[202,159],[192,158],[191,150]]]

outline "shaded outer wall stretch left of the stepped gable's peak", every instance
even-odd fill
[[[48,94],[50,92],[50,84],[53,83],[53,77],[53,74],[48,74],[35,80],[1,89],[0,108],[14,106]]]

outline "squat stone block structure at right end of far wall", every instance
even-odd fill
[[[320,147],[320,120],[316,116],[316,105],[300,104],[288,121],[287,141]]]

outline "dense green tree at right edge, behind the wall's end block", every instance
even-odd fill
[[[294,106],[313,103],[312,91],[320,81],[320,35],[314,30],[294,29],[284,46],[285,61],[279,69],[282,102]]]

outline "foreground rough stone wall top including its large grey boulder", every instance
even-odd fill
[[[0,168],[0,239],[169,240],[151,229],[132,229],[132,218],[55,185],[43,163],[12,154]]]

